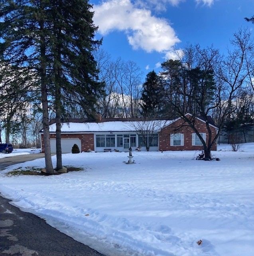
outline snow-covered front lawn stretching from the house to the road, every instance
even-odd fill
[[[127,153],[65,154],[63,164],[84,171],[6,176],[12,166],[0,192],[106,255],[252,256],[254,143],[219,149],[219,162],[193,160],[194,151],[133,152],[133,165],[123,163]],[[16,168],[26,166],[44,162]]]

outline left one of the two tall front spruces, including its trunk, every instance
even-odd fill
[[[40,90],[43,112],[43,142],[47,173],[54,172],[49,138],[48,39],[50,25],[47,0],[0,0],[0,54],[8,65],[32,74]]]

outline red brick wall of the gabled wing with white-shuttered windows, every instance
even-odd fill
[[[184,121],[182,119],[177,120],[173,124],[163,128],[159,133],[159,150],[203,150],[203,146],[192,146],[192,134],[194,131],[191,127],[182,126]],[[196,128],[199,132],[206,133],[206,141],[208,143],[208,130],[206,124],[200,120],[195,121]],[[216,136],[216,129],[212,126],[212,139]],[[170,134],[183,133],[184,134],[184,146],[170,146]],[[212,150],[217,150],[217,142],[213,145]]]

